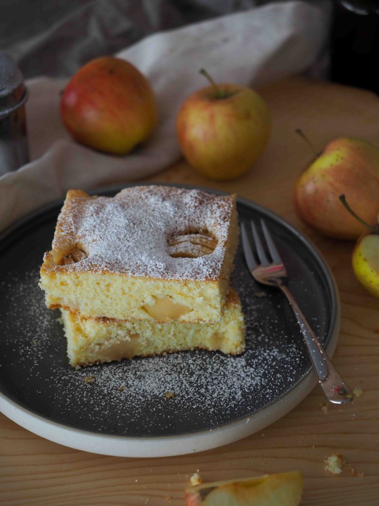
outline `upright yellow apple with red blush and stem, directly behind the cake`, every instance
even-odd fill
[[[271,120],[263,99],[238,85],[211,86],[182,104],[176,131],[183,155],[197,172],[214,180],[245,174],[263,151]]]

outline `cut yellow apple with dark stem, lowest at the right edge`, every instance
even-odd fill
[[[340,195],[340,200],[350,215],[366,227],[366,232],[358,239],[353,250],[355,276],[371,295],[379,297],[379,224],[376,222],[372,226],[362,220],[347,203],[345,195]]]

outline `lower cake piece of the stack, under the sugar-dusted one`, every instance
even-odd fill
[[[62,317],[72,367],[184,350],[218,350],[235,355],[245,349],[244,317],[233,290],[221,319],[213,324],[83,318],[64,309]]]

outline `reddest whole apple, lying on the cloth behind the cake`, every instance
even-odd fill
[[[61,97],[61,117],[79,143],[124,155],[157,124],[157,106],[146,77],[127,61],[92,60],[71,78]]]

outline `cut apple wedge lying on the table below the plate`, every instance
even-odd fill
[[[185,490],[187,506],[297,506],[303,491],[298,471],[219,481]]]

